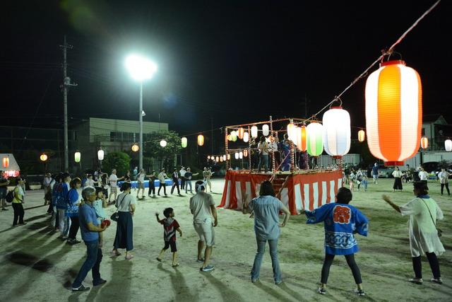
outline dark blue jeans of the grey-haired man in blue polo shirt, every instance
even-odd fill
[[[99,248],[99,240],[85,241],[86,245],[86,260],[83,262],[80,271],[77,274],[76,279],[73,281],[72,288],[78,289],[82,285],[82,281],[85,279],[90,269],[93,269],[93,284],[100,281],[100,262],[102,262],[102,250]]]

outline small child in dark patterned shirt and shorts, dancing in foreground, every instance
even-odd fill
[[[177,246],[176,246],[176,231],[179,232],[179,236],[182,237],[182,230],[179,223],[174,219],[174,210],[172,208],[166,208],[163,211],[163,216],[165,219],[160,220],[158,218],[158,213],[155,213],[157,222],[163,225],[163,240],[165,241],[165,246],[160,250],[160,254],[157,256],[157,261],[161,262],[163,254],[171,247],[172,252],[172,267],[178,267],[177,263]]]

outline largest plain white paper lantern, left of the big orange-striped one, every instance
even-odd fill
[[[340,157],[350,151],[352,130],[350,115],[342,107],[332,107],[323,114],[323,149],[331,156]]]

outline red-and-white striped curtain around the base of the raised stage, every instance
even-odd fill
[[[218,207],[242,209],[242,191],[245,191],[252,199],[258,195],[261,182],[270,180],[271,177],[271,174],[240,173],[237,170],[228,170],[221,203]],[[338,188],[343,186],[342,170],[277,173],[275,180],[278,178],[284,178],[284,183],[281,190],[275,187],[276,197],[290,209],[292,215],[297,215],[304,209],[312,211],[323,204],[335,202]]]

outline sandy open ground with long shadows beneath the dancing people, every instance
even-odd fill
[[[213,181],[215,202],[219,204],[223,180]],[[404,184],[405,185],[405,184]],[[304,216],[292,216],[283,228],[279,257],[283,284],[273,284],[270,256],[266,253],[261,281],[251,284],[249,272],[256,252],[253,221],[239,211],[218,209],[213,250],[215,270],[200,272],[196,262],[197,236],[191,224],[189,197],[145,199],[138,202],[134,220],[133,260],[109,255],[114,240],[114,224],[105,232],[101,274],[107,283],[84,293],[72,293],[71,281],[85,258],[85,245],[67,245],[47,227],[47,207],[42,207],[42,190],[29,191],[25,204],[26,226],[11,227],[13,211],[0,212],[0,297],[1,301],[451,301],[452,296],[452,199],[439,195],[439,184],[429,183],[432,196],[444,211],[439,223],[444,231],[446,253],[439,258],[444,284],[430,281],[410,284],[412,276],[405,217],[379,198],[389,192],[391,180],[369,185],[368,192],[354,192],[355,204],[370,219],[369,237],[358,236],[361,251],[356,256],[362,272],[366,297],[352,293],[354,282],[345,259],[338,257],[331,267],[326,296],[316,294],[323,261],[323,226],[307,226]],[[390,192],[400,204],[412,197]],[[162,226],[155,211],[173,207],[184,236],[177,238],[180,266],[171,266],[167,251],[164,262],[155,260],[163,247]],[[107,209],[113,213],[113,207]],[[78,238],[80,238],[80,233]],[[124,255],[124,254],[123,254]],[[424,280],[431,271],[423,260]],[[90,274],[85,285],[92,286]]]

